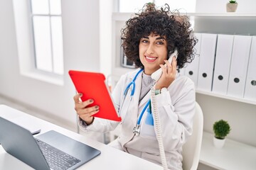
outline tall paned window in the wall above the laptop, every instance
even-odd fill
[[[63,34],[60,0],[31,0],[36,69],[63,74]]]

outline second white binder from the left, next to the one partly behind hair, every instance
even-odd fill
[[[216,40],[216,34],[203,33],[201,36],[197,89],[202,91],[211,91]]]

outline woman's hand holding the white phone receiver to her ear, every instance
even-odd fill
[[[166,63],[166,66],[164,66],[164,64],[160,64],[163,74],[161,74],[159,81],[156,82],[155,89],[162,89],[164,87],[168,88],[176,78],[176,72],[177,72],[176,58],[173,57],[171,63],[168,60],[164,60],[164,62]]]

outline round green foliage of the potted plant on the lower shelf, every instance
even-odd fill
[[[223,140],[230,132],[230,125],[225,120],[218,120],[213,124],[213,132],[215,137]]]

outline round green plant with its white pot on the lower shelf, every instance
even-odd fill
[[[225,137],[230,132],[230,125],[225,120],[218,120],[213,124],[213,144],[217,148],[222,148],[225,144]]]

